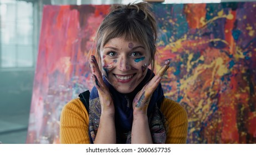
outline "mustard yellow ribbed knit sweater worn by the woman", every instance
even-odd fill
[[[186,110],[177,102],[164,99],[160,108],[167,119],[166,144],[186,143],[188,118]],[[63,107],[60,116],[60,142],[71,144],[90,143],[89,115],[80,99],[74,99]]]

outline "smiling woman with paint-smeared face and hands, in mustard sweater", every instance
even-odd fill
[[[99,61],[90,58],[89,113],[80,99],[64,106],[62,143],[186,143],[187,113],[160,84],[170,61],[156,75],[148,68],[154,69],[156,38],[149,3],[111,8],[95,38]]]

